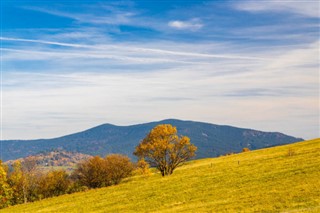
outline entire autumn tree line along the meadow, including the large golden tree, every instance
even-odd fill
[[[178,136],[176,127],[158,125],[134,151],[138,162],[121,154],[95,156],[77,164],[72,173],[66,170],[41,171],[35,157],[15,161],[11,168],[0,161],[0,209],[53,196],[117,185],[132,174],[146,174],[149,165],[162,176],[195,155],[196,147],[186,136]]]

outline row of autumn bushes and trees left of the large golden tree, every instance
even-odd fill
[[[65,170],[44,172],[33,157],[12,168],[0,162],[0,209],[9,205],[41,200],[66,193],[84,191],[120,183],[131,175],[134,164],[127,156],[112,154],[92,157],[77,165],[71,173]]]

